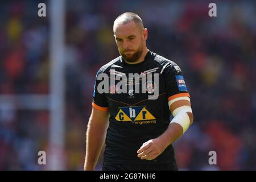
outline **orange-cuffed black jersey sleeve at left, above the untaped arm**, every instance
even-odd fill
[[[101,71],[97,72],[95,82],[94,82],[94,90],[93,90],[93,102],[92,105],[94,108],[101,110],[101,111],[108,111],[108,98],[106,98],[105,93],[99,93],[98,92],[98,84],[101,82],[101,80],[98,80],[98,75],[100,75]]]

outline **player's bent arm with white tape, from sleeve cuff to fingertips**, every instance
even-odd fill
[[[182,93],[180,96],[181,95]],[[143,143],[141,148],[137,151],[138,158],[146,160],[155,159],[162,154],[166,147],[175,142],[177,138],[181,137],[193,123],[193,114],[189,97],[183,96],[172,98],[168,104],[174,118],[162,135]]]

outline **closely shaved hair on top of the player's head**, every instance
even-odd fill
[[[115,30],[117,27],[119,27],[123,24],[130,23],[130,22],[134,22],[140,30],[144,29],[142,19],[137,14],[131,13],[131,12],[126,12],[126,13],[119,15],[117,17],[117,19],[115,19],[114,25],[113,25],[114,34],[115,34]]]

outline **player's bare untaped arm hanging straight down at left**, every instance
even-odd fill
[[[98,158],[104,146],[106,130],[109,125],[110,114],[108,111],[92,108],[87,132],[86,132],[86,155],[84,170],[94,170]]]

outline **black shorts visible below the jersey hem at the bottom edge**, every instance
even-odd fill
[[[176,162],[167,164],[103,164],[102,171],[178,171]]]

